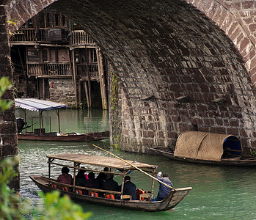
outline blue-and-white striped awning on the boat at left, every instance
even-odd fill
[[[38,100],[34,98],[15,98],[15,106],[29,111],[47,111],[52,109],[67,109],[62,103],[54,103],[48,100]]]

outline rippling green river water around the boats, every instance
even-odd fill
[[[16,110],[17,117],[23,117],[21,110]],[[54,111],[45,112],[51,116],[51,129],[57,130],[57,118]],[[100,117],[100,128],[109,127],[108,112],[101,110],[82,111],[65,109],[60,111],[61,131],[88,131],[85,122]],[[28,111],[27,117],[37,116],[37,112]],[[28,120],[28,121],[29,121]],[[30,121],[29,123],[30,124]],[[94,125],[96,126],[96,125]],[[256,169],[224,166],[208,166],[171,161],[158,155],[125,153],[111,149],[109,140],[100,142],[33,142],[20,141],[21,197],[38,202],[39,188],[30,180],[29,175],[47,175],[46,155],[56,153],[89,153],[107,155],[93,147],[96,144],[128,160],[158,165],[158,171],[168,172],[175,188],[191,186],[193,189],[172,211],[146,213],[120,208],[110,208],[79,202],[85,211],[90,211],[90,219],[256,219]],[[61,168],[54,168],[56,177]],[[138,188],[150,190],[150,177],[140,173],[131,173],[132,182]],[[117,182],[120,183],[120,180]],[[158,183],[154,188],[158,192]]]

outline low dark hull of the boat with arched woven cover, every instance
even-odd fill
[[[246,158],[242,159],[241,157],[237,158],[227,158],[222,159],[221,161],[204,161],[204,160],[197,160],[192,158],[181,158],[174,155],[174,153],[170,152],[167,147],[156,147],[150,148],[158,155],[162,155],[166,158],[175,160],[175,161],[186,161],[191,163],[197,164],[211,164],[211,165],[219,165],[219,166],[256,166],[256,159],[255,158]]]

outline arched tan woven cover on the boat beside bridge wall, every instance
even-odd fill
[[[186,131],[178,136],[174,155],[181,158],[221,161],[224,141],[233,135]]]

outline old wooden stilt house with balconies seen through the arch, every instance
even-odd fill
[[[26,21],[10,43],[19,98],[108,109],[106,59],[88,34],[61,12],[46,8]]]

